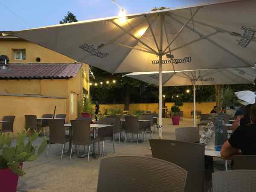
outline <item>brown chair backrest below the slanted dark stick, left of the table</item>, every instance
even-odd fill
[[[49,142],[64,143],[65,127],[62,119],[48,119],[49,124]]]

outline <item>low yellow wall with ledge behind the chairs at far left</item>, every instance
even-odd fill
[[[41,117],[44,113],[53,113],[56,106],[56,114],[66,113],[67,99],[26,97],[26,96],[0,96],[0,119],[3,116],[14,115],[14,134],[24,130],[25,116],[36,115]],[[2,126],[2,125],[0,125]]]

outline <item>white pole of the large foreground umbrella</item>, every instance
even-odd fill
[[[158,87],[158,97],[159,97],[159,139],[162,139],[162,55],[159,55],[159,87]]]

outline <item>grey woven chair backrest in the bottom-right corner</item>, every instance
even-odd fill
[[[212,173],[213,192],[255,192],[256,170],[229,170]]]

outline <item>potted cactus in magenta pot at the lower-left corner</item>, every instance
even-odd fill
[[[45,151],[47,147],[46,138],[44,138],[39,148],[33,145],[37,138],[38,133],[28,134],[27,132],[22,132],[17,135],[16,142],[14,142],[14,139],[9,134],[0,134],[1,191],[16,192],[18,178],[25,174],[22,171],[23,163],[37,160],[39,155]]]

